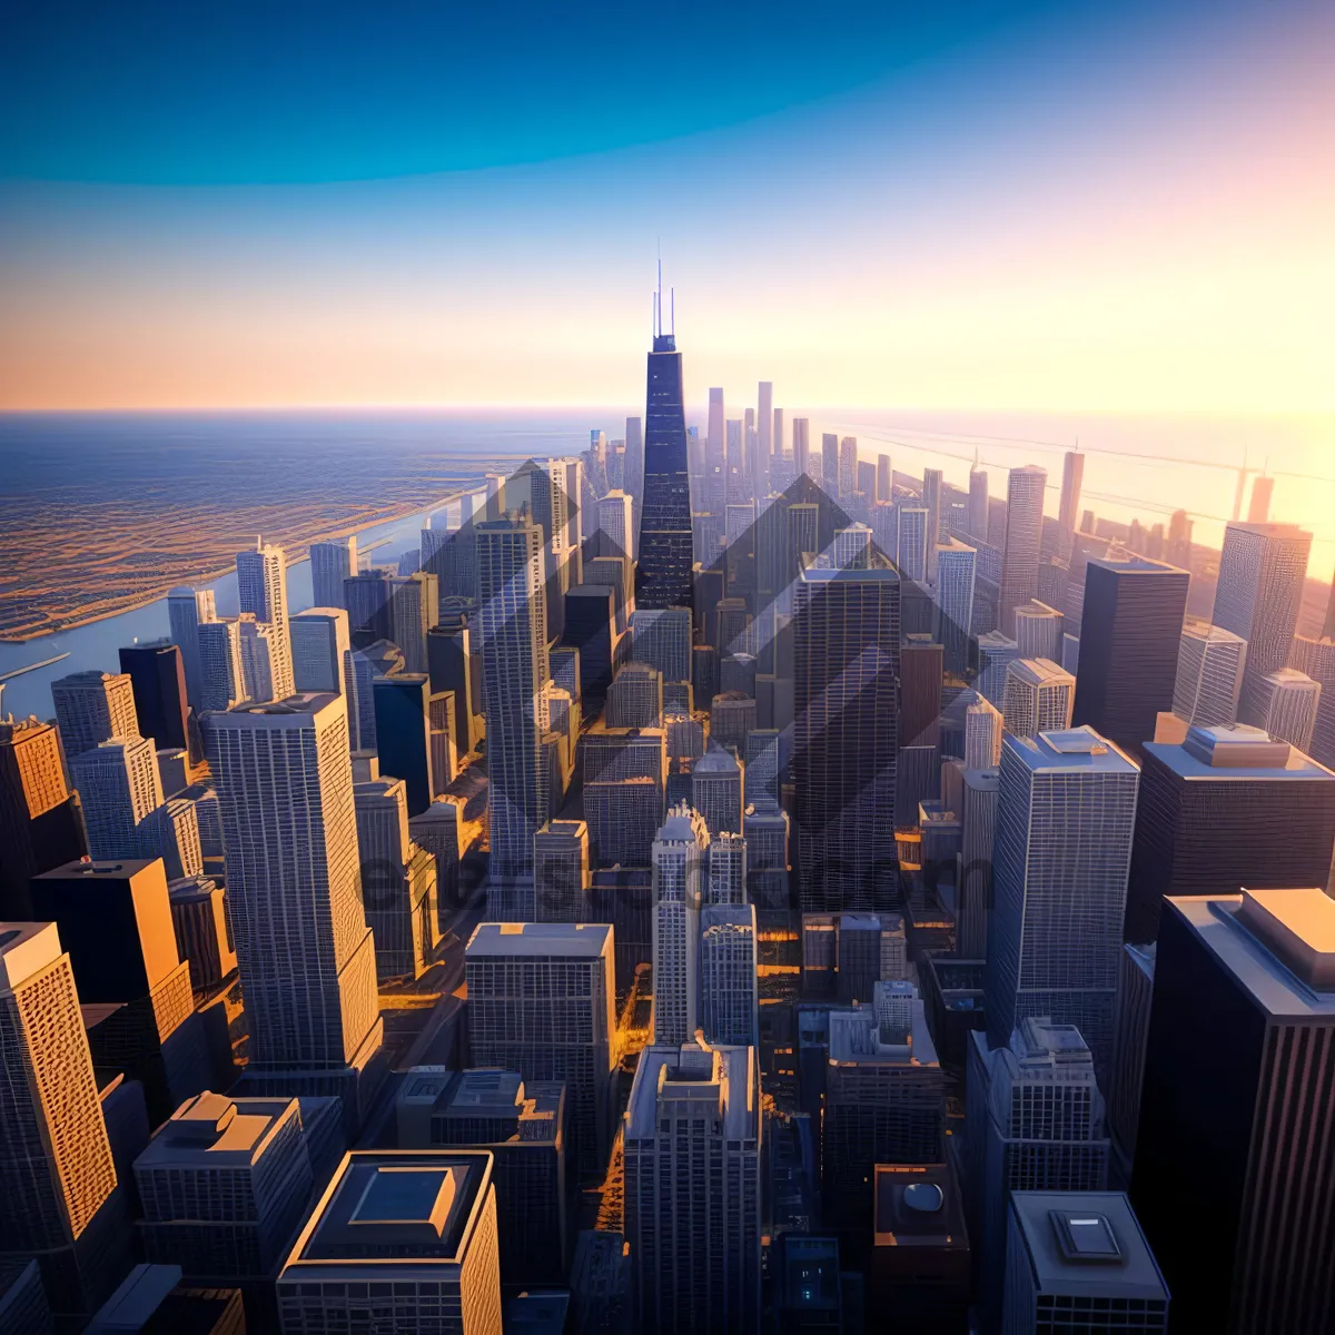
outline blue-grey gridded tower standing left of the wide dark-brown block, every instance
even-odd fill
[[[1005,738],[987,971],[993,1045],[1043,1015],[1079,1027],[1100,1071],[1112,1060],[1139,780],[1092,728]]]

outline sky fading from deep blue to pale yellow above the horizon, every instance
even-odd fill
[[[1335,7],[11,7],[0,407],[1335,410]],[[1335,445],[1335,442],[1332,442]]]

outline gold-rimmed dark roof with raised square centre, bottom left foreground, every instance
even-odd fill
[[[280,1283],[439,1275],[458,1266],[491,1187],[489,1149],[363,1149],[342,1164],[292,1247]]]

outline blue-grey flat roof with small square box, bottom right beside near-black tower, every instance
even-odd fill
[[[1120,1191],[1016,1191],[1011,1210],[1040,1294],[1168,1302],[1145,1235]]]

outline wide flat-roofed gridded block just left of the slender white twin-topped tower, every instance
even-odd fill
[[[474,1063],[565,1083],[581,1172],[601,1172],[611,1147],[613,949],[606,924],[482,922],[466,951]]]

